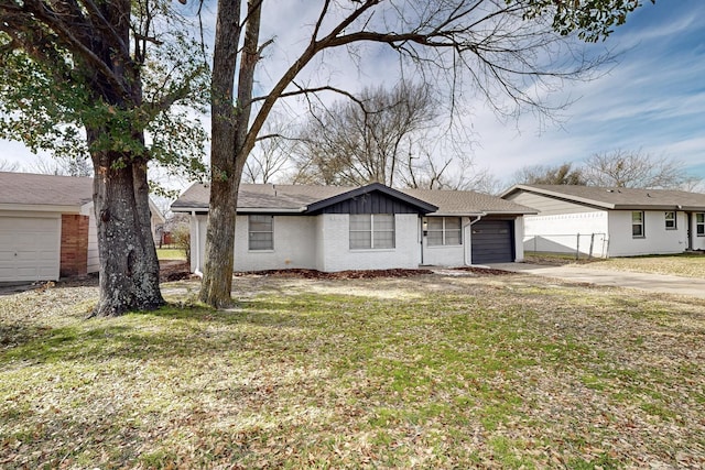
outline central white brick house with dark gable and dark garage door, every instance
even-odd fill
[[[209,189],[191,186],[172,211],[191,215],[191,266],[203,270]],[[473,192],[240,185],[235,270],[381,270],[523,260],[524,214]]]

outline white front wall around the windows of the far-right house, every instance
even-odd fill
[[[687,248],[687,219],[676,212],[676,229],[666,230],[665,211],[644,211],[644,237],[634,238],[631,232],[632,210],[609,212],[609,255],[636,256],[640,254],[681,253]]]

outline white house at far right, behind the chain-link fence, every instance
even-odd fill
[[[517,185],[502,197],[539,211],[524,219],[527,251],[609,258],[705,249],[704,194]]]

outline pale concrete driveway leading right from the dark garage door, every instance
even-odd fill
[[[528,263],[496,263],[496,270],[555,277],[614,287],[630,287],[664,294],[690,295],[705,298],[705,280],[628,271],[594,270],[581,265],[549,266]]]

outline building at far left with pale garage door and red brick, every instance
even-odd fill
[[[154,229],[164,217],[150,208]],[[0,282],[98,270],[93,178],[0,172]]]

